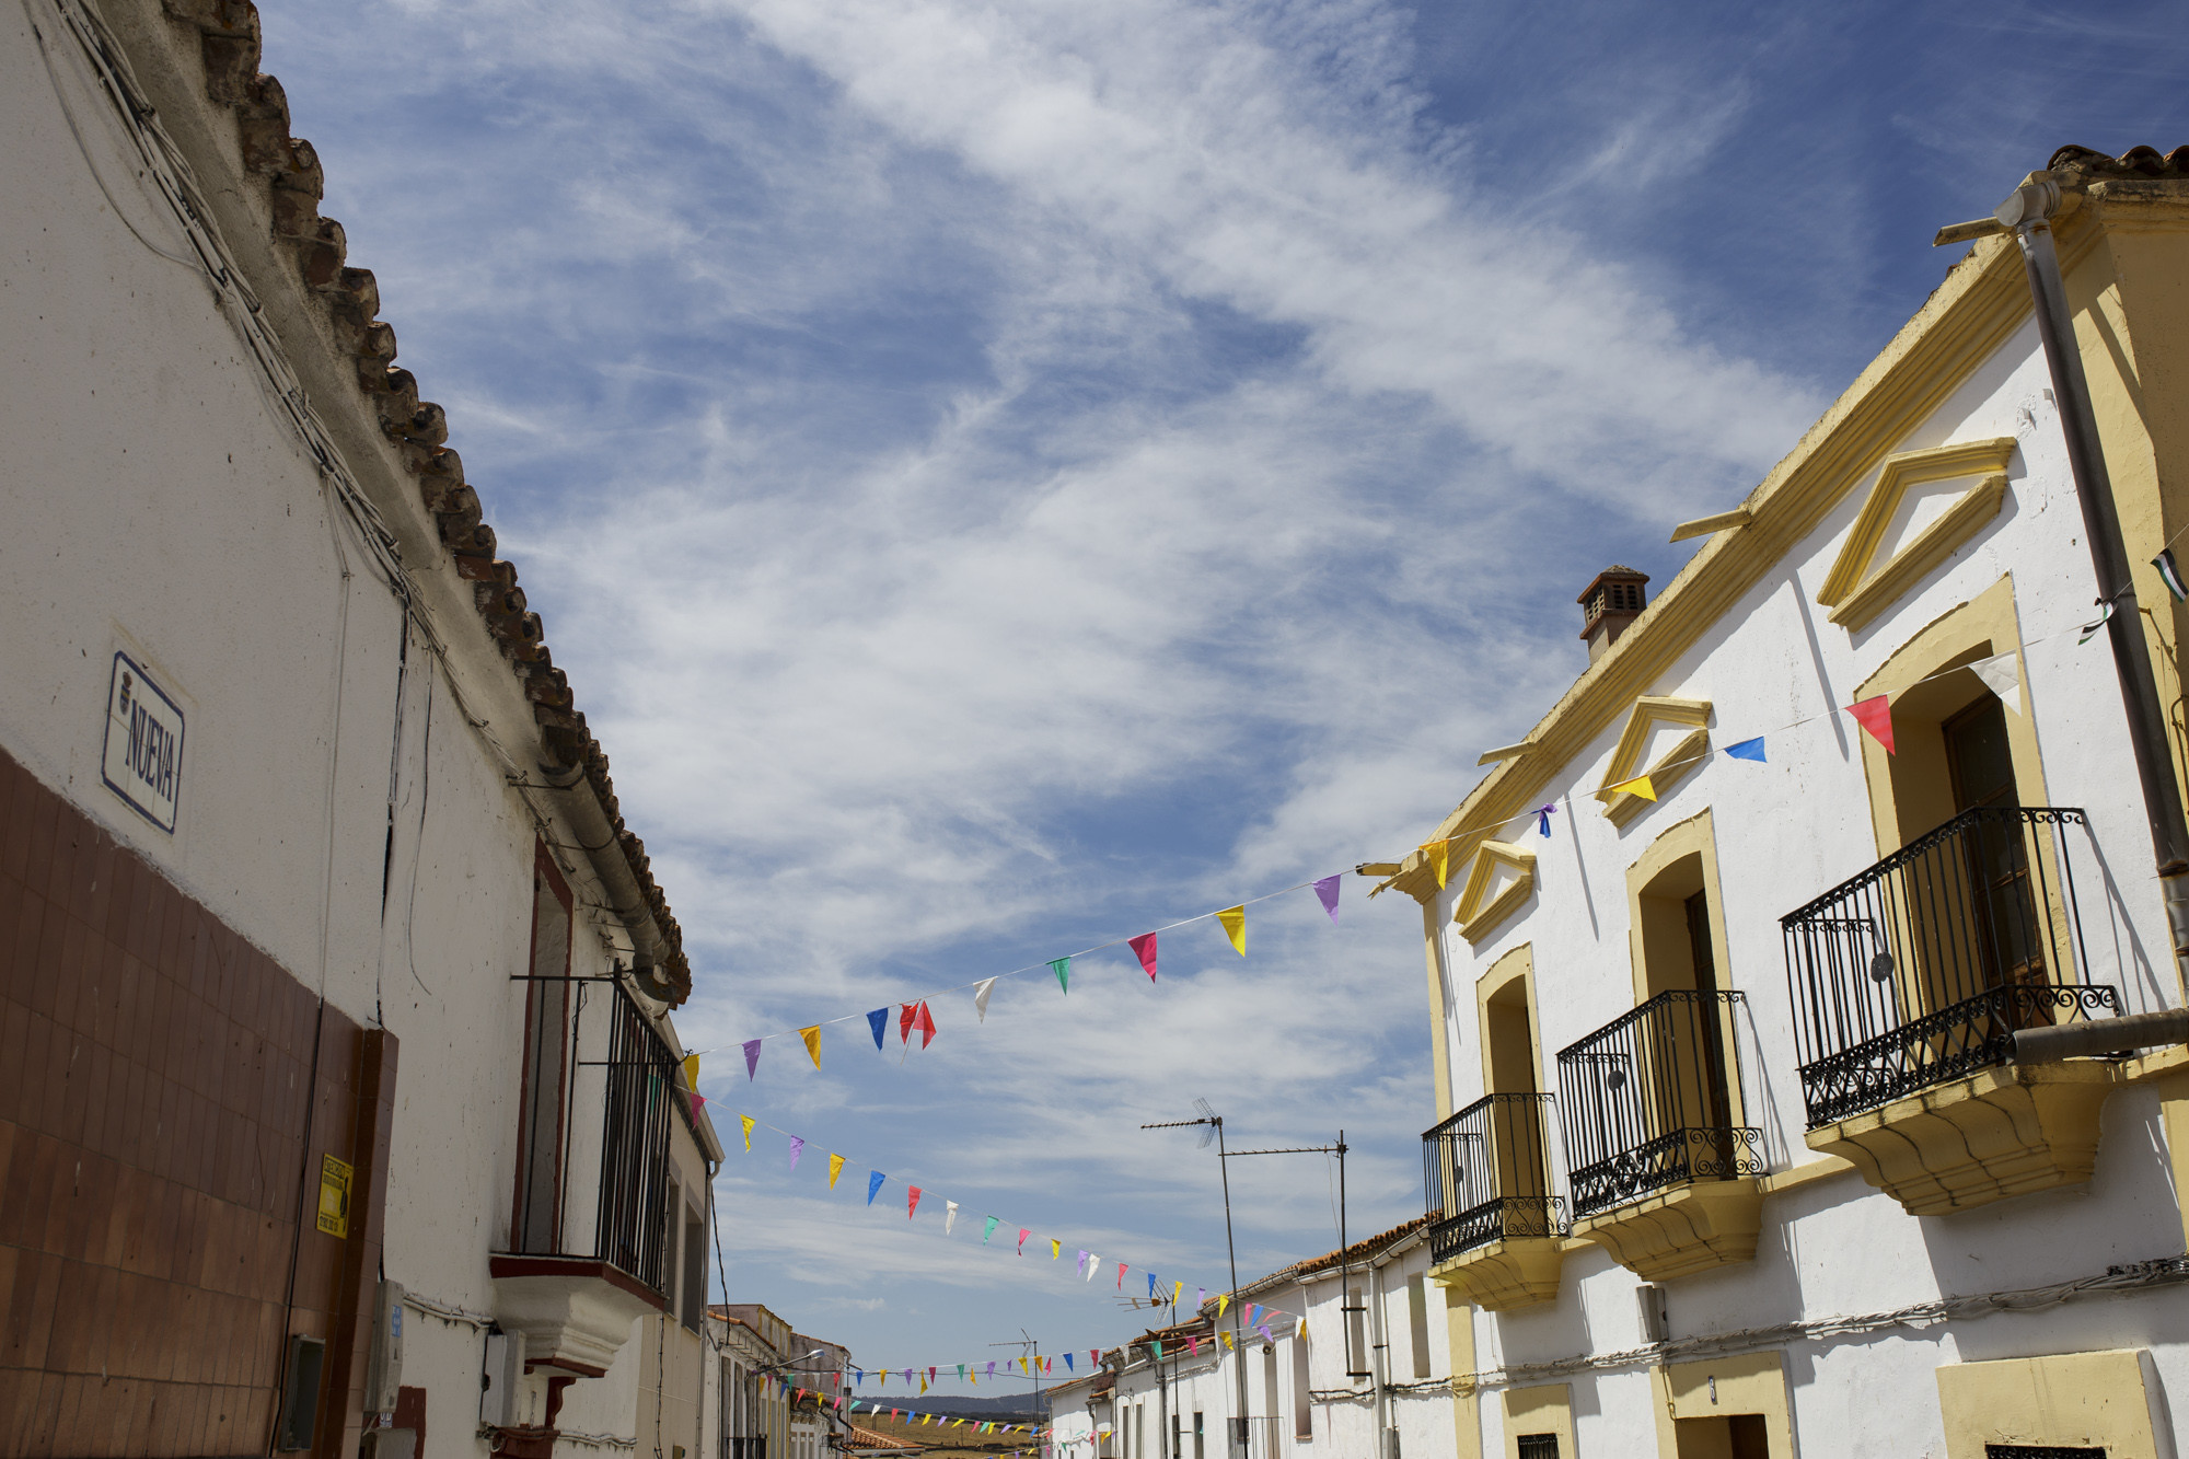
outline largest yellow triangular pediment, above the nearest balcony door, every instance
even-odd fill
[[[1817,589],[1817,602],[1832,609],[1832,622],[1850,633],[1861,629],[1996,517],[2007,497],[2012,456],[2014,436],[1887,456],[1848,543]],[[1915,515],[1926,504],[1915,489],[1964,478],[1974,480],[1915,528]]]

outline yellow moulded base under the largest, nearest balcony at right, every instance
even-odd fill
[[[2097,1165],[2097,1115],[2121,1082],[2106,1060],[2007,1065],[1924,1089],[1808,1133],[1911,1216],[1948,1216],[2080,1185]]]

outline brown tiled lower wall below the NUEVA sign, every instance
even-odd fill
[[[311,1170],[361,1030],[0,751],[0,1455],[267,1450],[315,1027]]]

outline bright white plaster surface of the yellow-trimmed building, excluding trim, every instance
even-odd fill
[[[1552,837],[1541,839],[1532,824],[1504,832],[1537,852],[1537,892],[1480,946],[1451,922],[1462,883],[1453,874],[1438,896],[1436,924],[1456,1108],[1489,1093],[1475,979],[1506,951],[1532,944],[1537,1038],[1552,1089],[1556,1049],[1633,1008],[1626,868],[1661,830],[1707,808],[1723,892],[1714,914],[1725,922],[1731,962],[1718,977],[1747,995],[1738,1014],[1747,1119],[1762,1126],[1773,1170],[1821,1159],[1804,1144],[1777,918],[1878,861],[1863,732],[1852,716],[1826,712],[1850,703],[1856,686],[1926,624],[2003,576],[2014,581],[2027,644],[2023,699],[2036,716],[2047,802],[2084,806],[2090,815],[2090,835],[2077,835],[2069,848],[2090,979],[2119,986],[2123,1012],[2180,1001],[2112,657],[2104,635],[2082,646],[2073,633],[2062,635],[2095,616],[2097,589],[2034,324],[2012,335],[1893,451],[1994,436],[2016,438],[1999,517],[1872,624],[1850,635],[1823,618],[1815,596],[1874,475],[1648,686],[1651,694],[1707,699],[1718,749],[1767,736],[1767,765],[1714,756],[1618,828],[1589,795],[1607,778],[1622,730],[1613,723],[1561,771],[1556,784],[1572,797],[1561,800]],[[1823,719],[1782,727],[1817,714]],[[1552,1133],[1552,1170],[1563,1181],[1556,1144]],[[2156,1095],[2130,1089],[2106,1106],[2097,1176],[2086,1190],[1939,1220],[1904,1214],[1856,1174],[1773,1196],[1751,1264],[1670,1284],[1672,1336],[1878,1312],[1946,1293],[2027,1288],[2174,1255],[2182,1233],[2163,1150]],[[1640,1345],[1635,1286],[1637,1277],[1609,1255],[1570,1253],[1556,1303],[1475,1314],[1478,1369]],[[2178,1310],[2178,1297],[2161,1295],[2055,1308],[2040,1321],[1990,1317],[1922,1334],[1791,1343],[1795,1424],[1808,1435],[1804,1452],[1942,1455],[1931,1371],[1950,1360],[2150,1345],[2176,1404],[2189,1402],[2182,1345],[2189,1334]],[[1655,1444],[1644,1367],[1576,1374],[1572,1385],[1583,1452]],[[1504,1452],[1497,1413],[1497,1391],[1484,1393],[1489,1455]]]

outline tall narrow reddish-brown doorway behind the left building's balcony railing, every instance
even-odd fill
[[[532,861],[532,981],[525,984],[525,1069],[517,1113],[517,1200],[510,1249],[560,1251],[563,1093],[569,1078],[569,883],[538,848]]]

